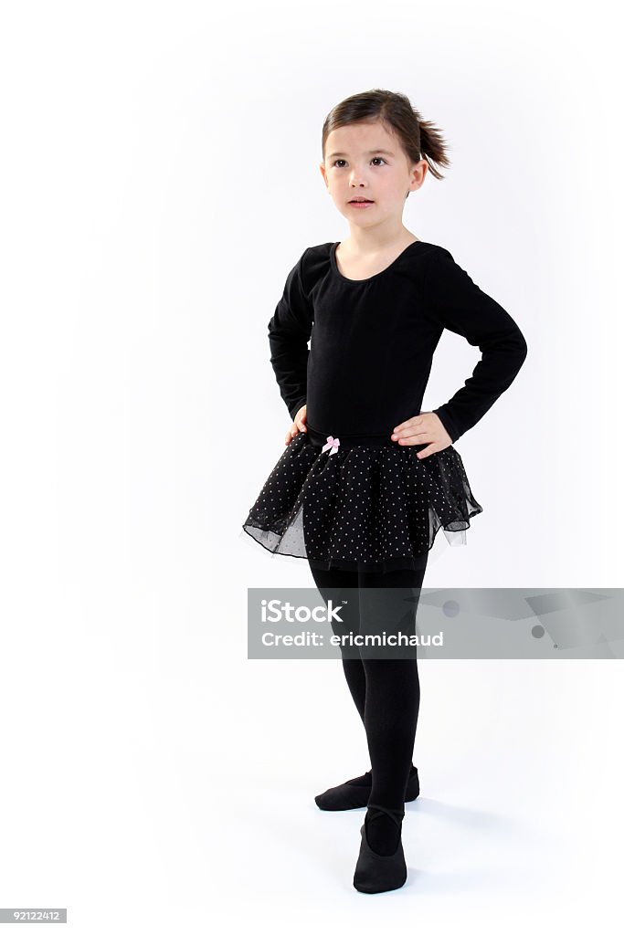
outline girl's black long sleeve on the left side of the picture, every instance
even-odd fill
[[[283,295],[268,323],[270,363],[291,419],[307,398],[308,341],[312,334],[312,303],[303,282],[308,248],[286,278]]]

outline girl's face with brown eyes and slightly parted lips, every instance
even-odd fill
[[[327,137],[320,169],[336,208],[349,223],[373,227],[399,219],[408,192],[420,188],[427,161],[411,164],[400,145],[379,122],[351,123]],[[370,204],[357,208],[354,198]]]

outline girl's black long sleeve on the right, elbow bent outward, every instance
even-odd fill
[[[472,377],[447,403],[433,410],[455,442],[515,380],[527,356],[527,342],[511,315],[482,292],[444,248],[429,262],[424,298],[438,324],[482,352]]]

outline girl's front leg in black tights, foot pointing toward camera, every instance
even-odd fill
[[[385,574],[360,573],[360,631],[413,634],[420,587],[426,570],[423,567]],[[374,588],[374,596],[367,590]],[[407,601],[407,603],[406,603]],[[408,608],[406,617],[405,608]],[[380,620],[380,614],[384,619]],[[380,626],[381,624],[381,626]],[[414,738],[420,706],[420,683],[415,648],[411,658],[375,657],[374,650],[361,650],[366,676],[364,726],[372,765],[370,802],[389,809],[403,810],[405,790],[410,776]],[[394,854],[400,827],[389,815],[369,808],[367,822],[370,847],[378,854]]]

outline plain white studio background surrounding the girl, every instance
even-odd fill
[[[529,345],[457,442],[484,512],[425,586],[624,584],[615,7],[1,10],[0,905],[80,935],[615,930],[621,662],[423,662],[408,884],[364,896],[363,812],[313,802],[370,767],[340,666],[246,658],[247,587],[309,569],[240,533],[289,424],[268,319],[348,234],[322,124],[381,87],[453,160],[404,223]],[[445,333],[423,409],[477,359]]]

